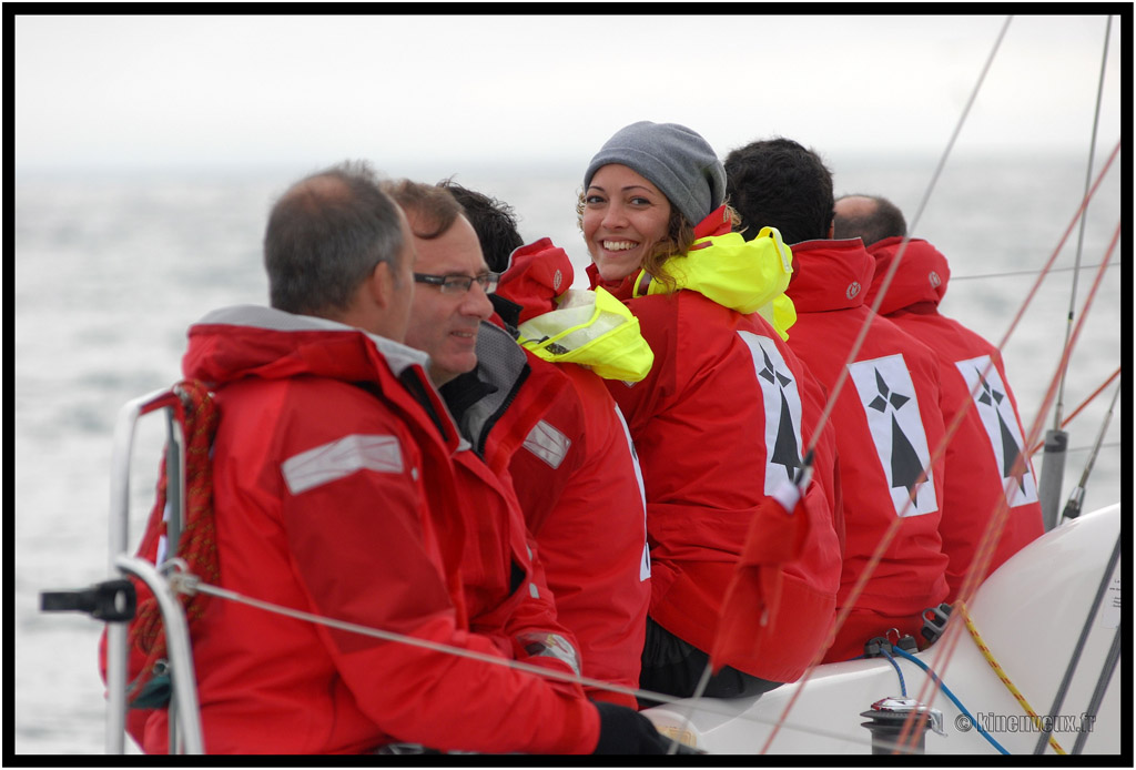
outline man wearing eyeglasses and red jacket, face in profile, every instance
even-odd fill
[[[383,189],[406,214],[417,254],[407,344],[429,354],[431,379],[469,442],[454,453],[454,467],[466,513],[461,575],[470,628],[517,660],[579,675],[577,641],[557,620],[508,474],[503,466],[491,467],[509,452],[486,446],[491,436],[516,435],[488,428],[524,411],[507,408],[528,374],[526,354],[512,337],[483,324],[493,313],[487,292],[496,287],[498,275],[485,265],[476,231],[448,191],[409,179]],[[481,376],[473,374],[479,354],[494,363]],[[542,395],[554,399],[565,384],[554,386],[559,390]],[[535,421],[543,409],[527,413]]]

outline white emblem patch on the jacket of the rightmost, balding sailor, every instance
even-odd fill
[[[978,410],[978,417],[986,428],[986,436],[991,440],[991,449],[994,451],[994,459],[1002,477],[1002,489],[1009,492],[1006,503],[1013,508],[1036,502],[1037,483],[1028,461],[1022,467],[1021,476],[1016,478],[1013,484],[1009,484],[1025,442],[1002,375],[994,367],[989,355],[955,361],[954,366],[967,382],[967,390],[975,400],[975,409]]]

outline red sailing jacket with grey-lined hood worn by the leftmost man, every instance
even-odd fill
[[[222,587],[504,659],[467,628],[459,438],[417,351],[266,308],[190,330],[183,368],[216,390]],[[525,580],[528,579],[526,572]],[[214,600],[193,631],[210,753],[358,753],[393,740],[588,752],[583,695],[484,661]],[[167,713],[140,743],[162,752]]]

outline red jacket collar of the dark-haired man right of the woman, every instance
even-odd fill
[[[875,260],[860,238],[793,244],[796,271],[785,293],[800,312],[858,308],[871,286]]]

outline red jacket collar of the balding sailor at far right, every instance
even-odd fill
[[[876,258],[876,276],[864,299],[866,304],[870,306],[876,301],[879,285],[884,282],[902,244],[903,237],[897,235],[868,246],[868,253]],[[880,316],[888,316],[920,302],[930,302],[937,307],[946,294],[946,283],[950,278],[951,268],[946,263],[946,257],[927,241],[911,238],[903,250],[900,267],[896,268],[892,285],[887,287],[877,312]]]

